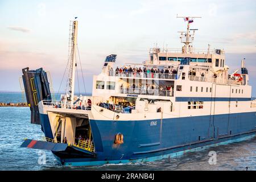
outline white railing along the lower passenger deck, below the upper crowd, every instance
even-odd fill
[[[120,89],[120,93],[174,97],[174,90],[171,91],[171,90],[159,90],[159,89],[122,88]]]

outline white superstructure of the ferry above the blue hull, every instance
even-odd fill
[[[242,73],[229,73],[223,49],[210,49],[209,45],[205,50],[195,49],[195,30],[190,33],[188,20],[187,32],[180,36],[184,43],[181,49],[150,48],[147,60],[122,67],[115,66],[117,55],[107,56],[102,72],[93,76],[92,96],[73,96],[77,35],[74,21],[72,74],[66,95],[70,100],[65,97],[61,101],[39,102],[40,113],[48,114],[52,133],[57,132],[61,118],[71,125],[65,132],[72,144],[75,131],[71,129],[76,125],[73,117],[143,121],[256,111],[244,60]]]

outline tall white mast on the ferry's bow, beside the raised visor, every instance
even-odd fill
[[[67,100],[73,102],[75,92],[75,73],[76,73],[76,49],[77,49],[77,20],[72,21],[69,39],[69,74],[68,74],[68,93]]]

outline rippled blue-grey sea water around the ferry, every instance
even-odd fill
[[[0,102],[26,100],[21,93],[0,93]],[[49,151],[19,147],[24,138],[42,137],[40,126],[30,124],[28,107],[0,107],[0,170],[256,170],[256,138],[151,163],[63,167]],[[217,164],[208,163],[209,151],[216,151]],[[46,154],[46,164],[39,164],[42,152]]]

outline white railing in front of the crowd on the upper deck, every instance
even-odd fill
[[[137,73],[137,72],[109,72],[109,76],[131,77],[131,78],[160,78],[160,79],[177,79],[177,74],[173,73]]]

